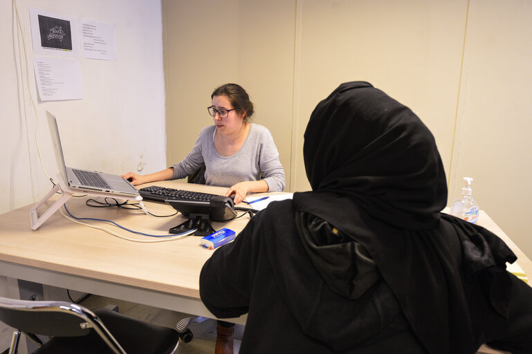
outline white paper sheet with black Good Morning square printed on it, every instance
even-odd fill
[[[76,17],[30,8],[30,22],[34,54],[80,56]]]

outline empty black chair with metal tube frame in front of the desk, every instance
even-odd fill
[[[65,301],[0,297],[0,321],[15,328],[10,354],[17,353],[21,333],[39,346],[34,354],[171,354],[179,344],[179,333],[172,328]],[[43,343],[37,335],[51,339]]]

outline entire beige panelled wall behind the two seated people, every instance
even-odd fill
[[[311,111],[338,84],[366,80],[432,130],[450,201],[475,178],[481,207],[532,257],[531,15],[529,1],[163,0],[167,162],[211,124],[212,89],[237,82],[273,133],[286,189],[309,189]]]

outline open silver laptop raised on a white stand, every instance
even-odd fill
[[[57,167],[68,187],[83,189],[85,192],[104,192],[115,196],[127,196],[128,198],[139,195],[138,190],[131,183],[118,175],[66,167],[61,140],[59,140],[57,120],[55,115],[48,111],[46,111],[46,117],[48,118],[48,128],[50,128],[52,136]]]

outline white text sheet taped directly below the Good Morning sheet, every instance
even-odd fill
[[[81,66],[77,59],[34,57],[33,67],[42,101],[83,98]]]

